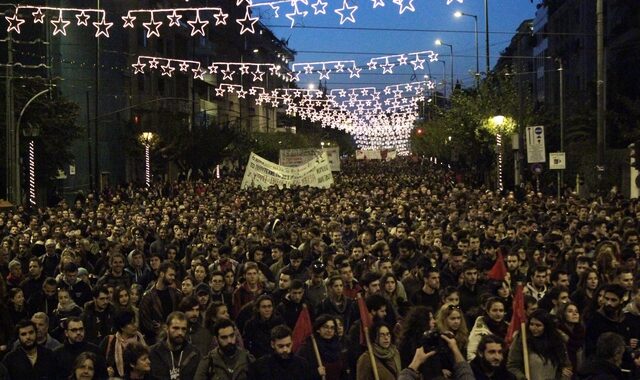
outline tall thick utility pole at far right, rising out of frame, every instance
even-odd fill
[[[597,158],[598,185],[602,184],[602,172],[604,171],[604,150],[605,150],[605,93],[604,93],[604,9],[603,1],[596,1],[596,56],[597,56]],[[599,189],[601,190],[601,189]]]

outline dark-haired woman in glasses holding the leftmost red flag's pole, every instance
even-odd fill
[[[337,334],[338,324],[335,317],[322,314],[313,323],[313,332],[320,351],[322,366],[326,371],[326,380],[340,380],[347,378],[347,362],[342,356],[342,346]],[[310,363],[311,368],[319,366],[313,350],[311,338],[302,346],[298,355],[302,356]],[[317,365],[316,365],[317,364]],[[318,372],[314,373],[314,379],[320,379]]]

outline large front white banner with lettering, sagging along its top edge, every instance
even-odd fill
[[[240,188],[243,190],[252,187],[266,189],[275,185],[280,189],[292,186],[325,189],[332,184],[333,174],[331,174],[327,155],[324,153],[304,165],[295,167],[281,166],[251,153]]]

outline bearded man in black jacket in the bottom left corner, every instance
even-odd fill
[[[16,324],[20,345],[7,354],[2,364],[10,379],[54,379],[56,362],[53,352],[36,343],[36,325],[28,319]]]

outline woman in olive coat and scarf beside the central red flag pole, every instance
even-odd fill
[[[402,370],[400,352],[393,344],[393,333],[384,322],[376,322],[369,330],[371,348],[379,380],[395,380]],[[358,359],[357,380],[374,380],[371,355],[364,352]]]

